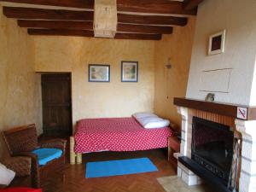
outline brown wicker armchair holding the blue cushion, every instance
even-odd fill
[[[11,156],[28,156],[32,159],[31,177],[33,188],[43,188],[55,174],[61,174],[64,179],[66,140],[53,139],[38,143],[35,125],[24,125],[9,131],[3,131],[3,139]],[[38,157],[31,151],[36,148],[60,148],[61,157],[49,161],[45,166],[38,165]],[[49,177],[50,176],[50,177]]]

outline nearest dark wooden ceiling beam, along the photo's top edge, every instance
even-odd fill
[[[36,5],[61,6],[69,8],[93,9],[93,0],[0,0],[0,2],[28,3]],[[118,11],[196,15],[196,9],[183,9],[182,2],[168,0],[117,0]]]

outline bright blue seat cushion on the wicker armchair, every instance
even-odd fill
[[[38,148],[32,151],[32,154],[38,156],[39,166],[44,166],[51,160],[61,157],[62,150],[59,148]]]

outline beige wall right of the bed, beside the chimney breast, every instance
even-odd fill
[[[174,27],[172,35],[166,35],[155,43],[155,113],[171,119],[180,126],[180,115],[174,106],[174,97],[184,97],[189,76],[189,64],[195,32],[195,17],[189,18],[184,27]],[[167,69],[168,58],[172,68]]]

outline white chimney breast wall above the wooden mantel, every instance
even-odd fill
[[[209,36],[224,29],[224,54],[207,55]],[[217,102],[256,105],[255,56],[256,1],[205,0],[198,9],[186,97],[203,100],[215,92]],[[225,68],[230,70],[218,70]],[[204,79],[208,70],[218,71]]]

